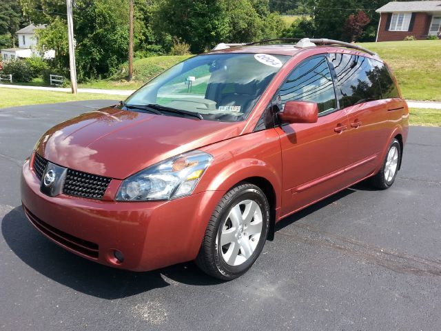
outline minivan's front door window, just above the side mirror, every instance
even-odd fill
[[[287,101],[310,101],[318,104],[320,113],[334,110],[336,94],[325,57],[307,59],[296,66],[279,95],[283,106]]]

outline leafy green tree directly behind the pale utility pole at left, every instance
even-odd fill
[[[52,5],[57,9],[51,11]],[[74,38],[78,79],[107,77],[127,59],[128,1],[77,0],[76,5]],[[54,49],[52,67],[66,75],[69,61],[67,23],[62,14],[66,11],[65,3],[63,8],[59,0],[23,0],[23,10],[30,17],[36,15],[35,19],[48,23],[46,29],[37,31],[38,48]]]

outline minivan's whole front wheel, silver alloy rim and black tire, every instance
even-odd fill
[[[251,183],[232,188],[216,205],[196,264],[218,279],[239,277],[263,250],[268,226],[269,203],[262,190]]]

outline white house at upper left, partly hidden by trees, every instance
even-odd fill
[[[25,28],[18,30],[15,34],[19,37],[19,47],[16,48],[5,48],[0,50],[1,59],[3,61],[8,61],[12,59],[25,59],[27,57],[31,57],[32,55],[37,55],[37,57],[41,57],[40,52],[36,50],[37,46],[37,36],[35,35],[35,30],[37,29],[45,29],[46,27],[43,25],[34,26],[34,24],[30,24]],[[52,59],[55,57],[54,50],[48,50],[44,52],[43,57],[45,59]]]

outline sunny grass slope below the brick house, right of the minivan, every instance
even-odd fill
[[[441,101],[441,40],[360,43],[396,74],[404,98]]]

